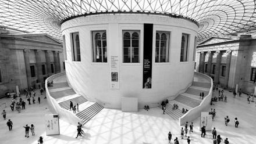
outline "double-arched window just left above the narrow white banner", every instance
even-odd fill
[[[107,62],[106,31],[93,31],[93,62]]]

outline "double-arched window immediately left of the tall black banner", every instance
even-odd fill
[[[123,31],[123,63],[140,63],[140,31]]]

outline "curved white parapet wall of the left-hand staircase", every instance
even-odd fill
[[[73,111],[69,111],[66,109],[63,109],[61,106],[59,106],[58,102],[54,98],[51,97],[48,87],[47,87],[47,81],[52,81],[57,77],[61,77],[62,75],[65,75],[65,72],[58,73],[55,75],[52,75],[51,77],[48,77],[45,80],[45,93],[47,96],[47,102],[48,102],[48,109],[52,111],[52,113],[57,113],[59,114],[59,117],[65,120],[67,123],[70,124],[77,124],[78,122],[83,124],[83,121],[77,117],[76,115],[73,114]]]

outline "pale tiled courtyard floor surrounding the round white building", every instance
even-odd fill
[[[61,82],[61,80],[59,81]],[[256,115],[255,103],[247,103],[246,95],[242,94],[240,98],[233,98],[232,93],[225,91],[227,103],[214,102],[215,105],[209,107],[209,110],[216,109],[216,117],[212,127],[216,127],[217,134],[223,138],[229,138],[232,143],[255,143],[256,142]],[[40,95],[37,90],[36,99]],[[214,92],[217,95],[217,92]],[[26,109],[21,113],[10,110],[10,98],[0,99],[0,111],[7,111],[6,120],[0,117],[0,143],[37,143],[39,136],[44,137],[44,143],[168,143],[168,132],[172,132],[173,138],[177,137],[180,143],[187,141],[180,139],[181,127],[178,121],[172,120],[167,114],[162,114],[159,107],[151,108],[149,111],[140,109],[138,113],[123,113],[115,109],[103,109],[97,116],[84,125],[84,135],[76,139],[76,124],[68,124],[60,120],[60,135],[45,135],[45,114],[51,114],[47,109],[45,95],[40,95],[41,104],[35,103],[26,105]],[[24,95],[22,95],[24,99]],[[256,101],[256,99],[255,99]],[[208,110],[208,111],[209,111]],[[225,126],[224,117],[230,117],[229,125]],[[234,118],[237,117],[240,124],[238,128],[234,127]],[[9,131],[6,122],[8,119],[13,121],[13,130]],[[212,134],[207,132],[205,138],[201,138],[199,131],[200,119],[193,121],[194,132],[188,134],[191,137],[191,144],[194,143],[212,143]],[[24,137],[24,128],[26,124],[35,125],[35,136]],[[190,124],[190,122],[189,122]],[[173,140],[172,140],[173,143]],[[224,142],[222,142],[224,143]]]

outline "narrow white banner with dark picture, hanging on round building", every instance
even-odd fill
[[[119,89],[119,59],[111,56],[111,88]]]

